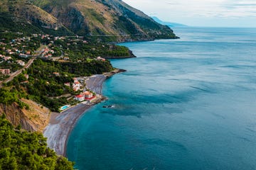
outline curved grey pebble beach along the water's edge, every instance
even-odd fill
[[[105,98],[102,94],[103,82],[112,77],[112,75],[119,72],[125,72],[124,69],[114,69],[113,72],[107,72],[105,74],[97,74],[89,77],[86,81],[88,89],[95,91],[99,100],[87,105],[85,103],[79,103],[76,106],[68,108],[62,113],[52,113],[50,115],[50,123],[43,130],[43,136],[47,137],[47,145],[50,149],[53,149],[56,154],[65,156],[66,146],[70,132],[75,127],[79,118],[86,113],[92,106],[100,103]]]

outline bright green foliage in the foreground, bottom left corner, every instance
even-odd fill
[[[73,169],[72,162],[47,147],[41,133],[14,128],[4,117],[0,117],[0,169]]]

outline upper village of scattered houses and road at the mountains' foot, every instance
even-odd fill
[[[1,33],[1,37],[9,32]],[[0,81],[12,72],[25,66],[30,57],[59,62],[82,62],[83,60],[105,61],[104,57],[129,56],[129,50],[110,44],[100,44],[83,40],[78,36],[60,36],[33,34],[0,39]],[[38,50],[40,49],[40,50]]]

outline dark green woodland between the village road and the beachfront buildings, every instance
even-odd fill
[[[60,106],[67,103],[75,103],[65,97],[58,97],[64,94],[78,94],[64,84],[73,82],[73,77],[90,76],[91,74],[102,74],[103,72],[112,71],[112,65],[109,61],[90,60],[85,62],[53,62],[35,60],[26,74],[29,75],[28,82],[24,79],[23,74],[15,77],[6,86],[13,86],[14,94],[3,94],[2,100],[7,103],[18,102],[18,98],[31,98],[33,101],[43,104],[51,111],[58,112]],[[58,76],[53,72],[58,72]],[[21,88],[22,87],[22,88]],[[7,93],[5,91],[5,93]],[[11,93],[11,92],[10,92]],[[8,97],[10,96],[10,97]],[[1,98],[0,98],[1,99]]]

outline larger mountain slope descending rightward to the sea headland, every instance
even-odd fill
[[[80,35],[131,35],[133,40],[174,38],[172,30],[161,26],[141,11],[117,0],[35,0],[34,4],[58,18]],[[68,14],[67,14],[68,13]]]

